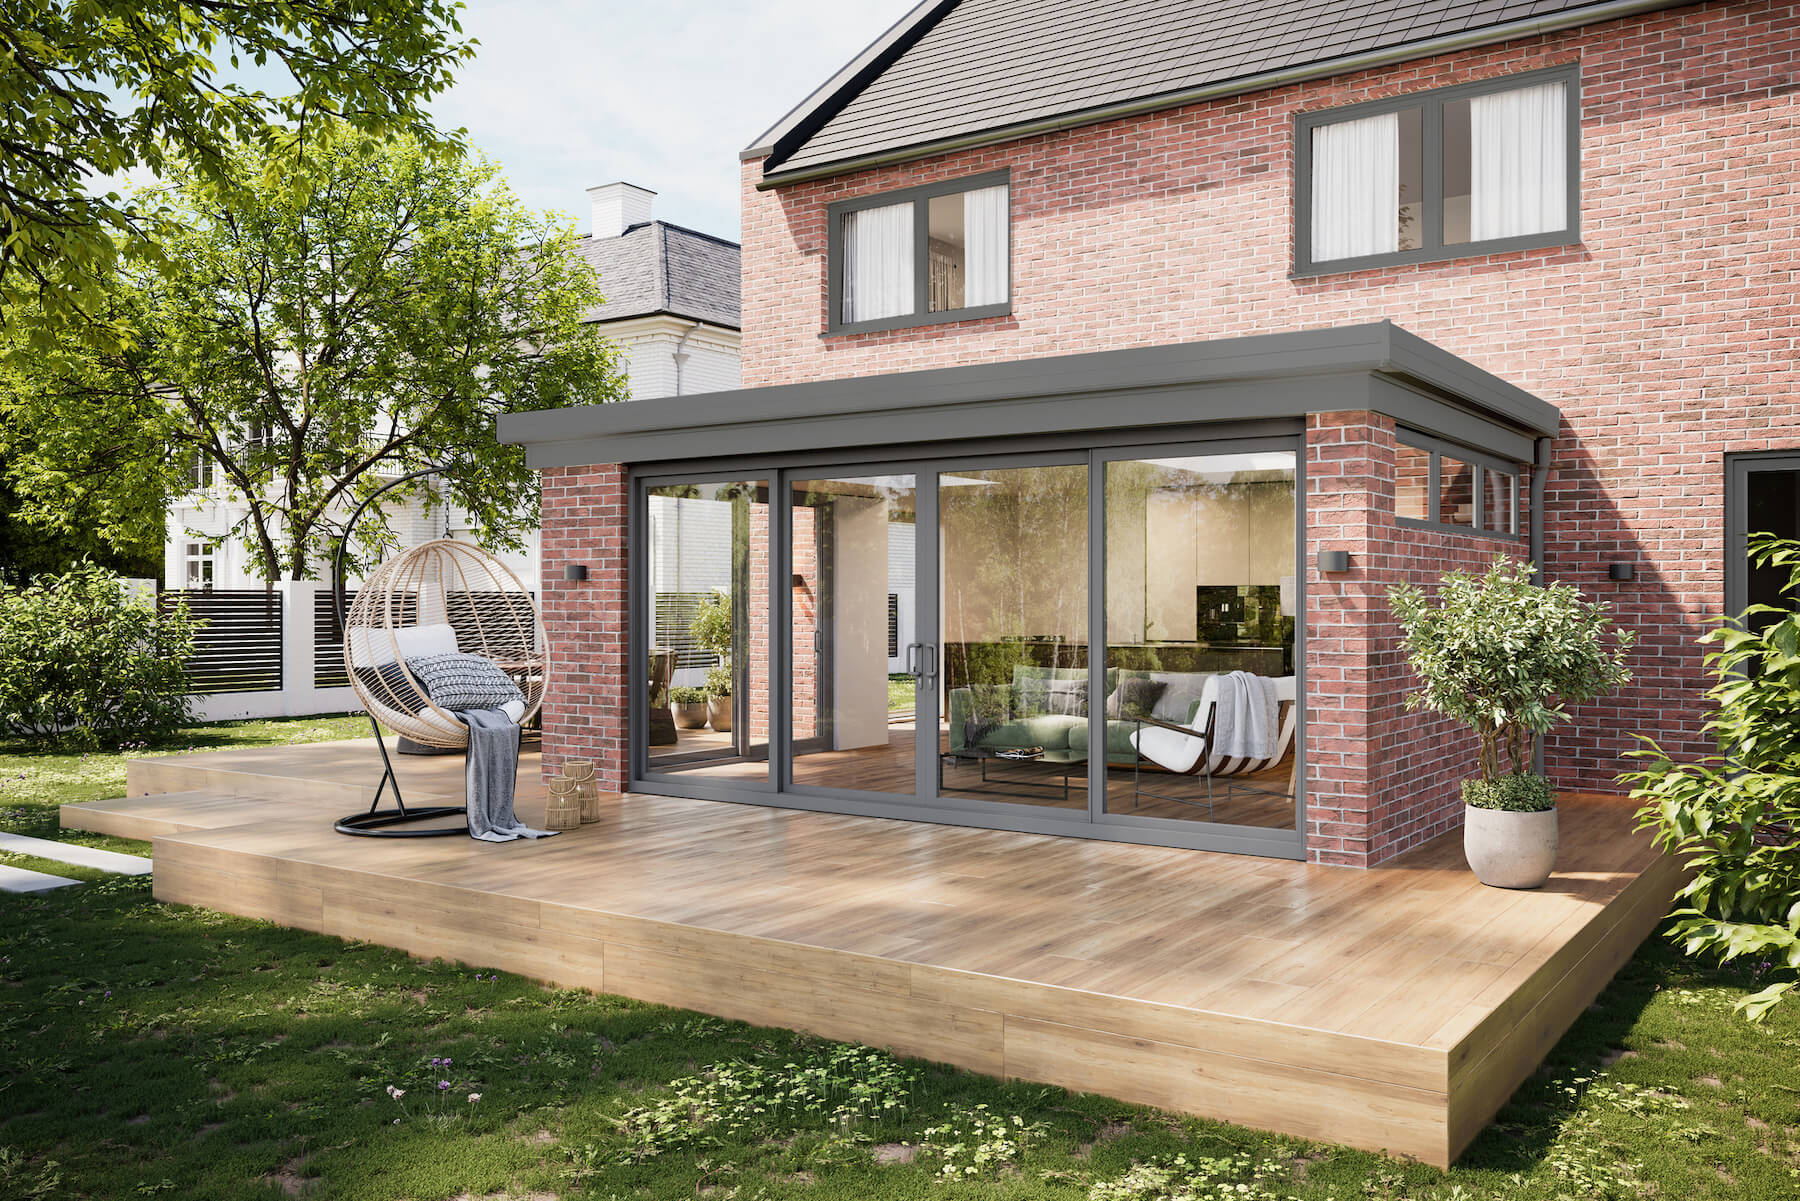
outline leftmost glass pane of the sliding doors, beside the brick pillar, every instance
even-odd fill
[[[657,484],[644,510],[644,767],[770,787],[769,483]]]

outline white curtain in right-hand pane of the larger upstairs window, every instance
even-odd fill
[[[1519,238],[1568,225],[1568,86],[1469,101],[1469,236]]]

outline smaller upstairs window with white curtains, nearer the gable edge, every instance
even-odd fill
[[[1012,312],[1004,173],[832,205],[830,331]]]

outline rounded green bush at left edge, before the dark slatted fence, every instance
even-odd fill
[[[85,747],[173,733],[191,720],[194,628],[92,564],[0,592],[0,733]]]

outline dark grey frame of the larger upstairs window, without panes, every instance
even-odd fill
[[[1566,214],[1562,229],[1517,238],[1490,238],[1487,241],[1444,241],[1444,108],[1456,101],[1496,92],[1514,92],[1544,83],[1562,83],[1564,97],[1564,153],[1566,153]],[[1312,257],[1312,133],[1321,126],[1359,121],[1382,113],[1400,113],[1420,110],[1420,245],[1413,250],[1395,250],[1391,254],[1363,254],[1354,257],[1323,259]],[[1294,115],[1294,270],[1292,277],[1336,275],[1377,266],[1399,266],[1404,263],[1444,263],[1453,259],[1483,257],[1489,254],[1507,254],[1510,250],[1537,250],[1544,247],[1564,247],[1580,243],[1580,67],[1548,67],[1526,70],[1480,83],[1462,83],[1427,92],[1408,92],[1381,101],[1364,101],[1343,108],[1307,112]]]

